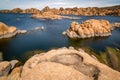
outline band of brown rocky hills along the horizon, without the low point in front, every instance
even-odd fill
[[[20,9],[20,8],[14,8],[12,10],[0,10],[0,13],[27,13],[27,14],[41,14],[44,12],[52,12],[56,15],[82,15],[82,16],[106,16],[106,15],[112,15],[112,16],[120,16],[120,5],[117,6],[109,6],[109,7],[88,7],[88,8],[49,8],[46,6],[42,10],[31,8],[31,9]]]

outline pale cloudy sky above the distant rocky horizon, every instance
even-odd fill
[[[0,0],[0,9],[60,7],[106,7],[120,5],[120,0]]]

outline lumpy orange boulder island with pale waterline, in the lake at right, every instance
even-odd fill
[[[72,22],[70,29],[63,34],[67,34],[70,38],[90,38],[90,37],[103,37],[111,35],[112,26],[107,20],[86,20],[79,24]]]

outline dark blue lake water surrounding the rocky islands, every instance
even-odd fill
[[[40,20],[30,18],[30,14],[0,14],[0,22],[9,26],[16,26],[18,29],[31,30],[35,27],[44,26],[44,31],[34,31],[28,34],[19,34],[9,39],[0,40],[0,51],[4,60],[13,58],[21,59],[21,56],[32,50],[50,50],[59,47],[90,47],[95,51],[104,50],[105,47],[120,48],[120,29],[112,32],[112,35],[105,38],[92,38],[82,40],[71,40],[63,36],[62,32],[69,28],[72,21],[82,22],[87,19],[106,19],[112,22],[120,22],[118,16],[76,16],[80,20]],[[23,57],[23,56],[22,56]]]

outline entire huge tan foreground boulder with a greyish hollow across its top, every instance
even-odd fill
[[[34,55],[24,64],[21,79],[120,80],[120,72],[71,47]]]

